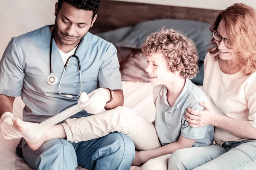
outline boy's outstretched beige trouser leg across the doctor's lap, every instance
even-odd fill
[[[117,131],[131,138],[138,150],[161,146],[154,125],[125,107],[119,106],[79,119],[67,119],[62,125],[70,142],[96,139]]]

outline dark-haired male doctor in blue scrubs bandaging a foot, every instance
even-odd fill
[[[90,96],[86,111],[71,118],[123,105],[116,48],[88,32],[96,20],[99,3],[100,0],[58,0],[54,26],[11,39],[0,61],[0,132],[5,139],[22,137],[12,124],[13,101],[20,95],[26,105],[23,120],[35,123],[76,105],[78,97],[74,96],[79,96],[80,91]],[[80,60],[81,81],[76,57],[70,59],[63,74],[64,64],[74,54]],[[129,170],[135,147],[131,139],[115,132],[79,143],[52,139],[36,151],[22,139],[16,153],[38,170],[74,170],[77,166]]]

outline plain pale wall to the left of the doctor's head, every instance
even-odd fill
[[[54,24],[57,0],[3,0],[0,5],[0,58],[12,37]]]

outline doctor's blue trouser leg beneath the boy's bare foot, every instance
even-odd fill
[[[36,151],[25,144],[22,152],[26,163],[36,170],[75,170],[77,167],[74,147],[65,139],[51,139]]]

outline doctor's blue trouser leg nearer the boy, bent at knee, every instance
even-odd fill
[[[134,143],[122,133],[73,143],[78,166],[94,170],[129,170],[135,156]]]

